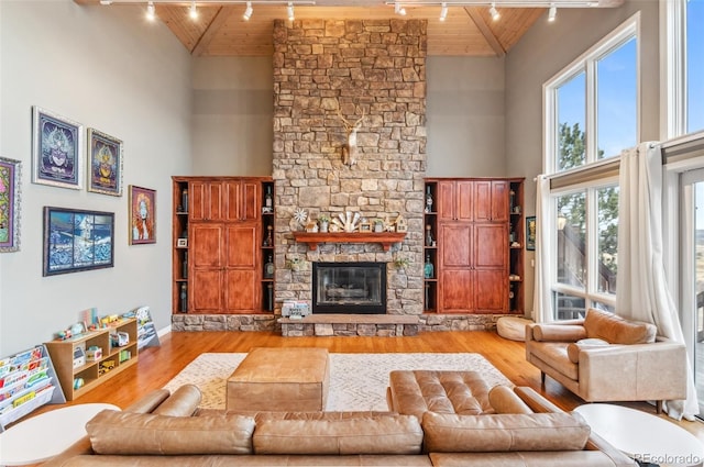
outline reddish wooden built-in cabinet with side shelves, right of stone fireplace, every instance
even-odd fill
[[[522,179],[427,179],[428,193],[425,311],[522,312]]]

